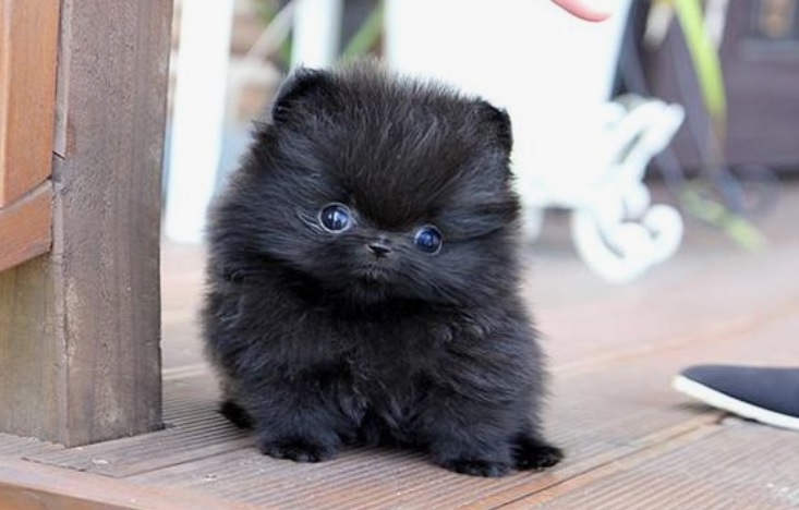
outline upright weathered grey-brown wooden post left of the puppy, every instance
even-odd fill
[[[65,435],[82,445],[161,422],[159,234],[171,0],[66,0],[69,65],[53,262],[64,316]]]

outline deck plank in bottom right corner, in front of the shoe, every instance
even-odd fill
[[[522,510],[591,508],[788,509],[799,507],[796,433],[730,418],[503,506]],[[701,440],[699,440],[701,439]]]

